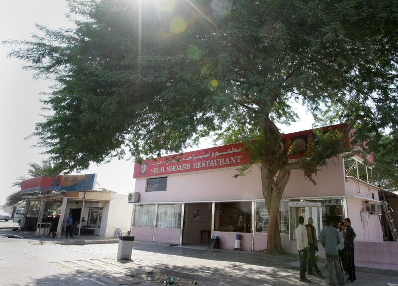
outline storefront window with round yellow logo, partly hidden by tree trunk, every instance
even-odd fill
[[[289,233],[289,207],[287,201],[281,201],[278,212],[280,233]],[[268,231],[269,214],[267,205],[263,201],[256,201],[256,232]]]

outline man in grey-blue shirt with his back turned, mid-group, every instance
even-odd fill
[[[344,285],[344,276],[339,261],[339,231],[333,227],[333,219],[326,219],[326,227],[320,232],[320,243],[325,249],[327,269],[329,271],[329,285],[336,285],[337,277],[339,285]]]

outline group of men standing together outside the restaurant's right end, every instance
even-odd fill
[[[317,275],[323,278],[322,272],[316,263],[316,252],[318,251],[318,239],[316,229],[313,226],[313,219],[308,219],[308,224],[304,226],[304,217],[298,217],[298,227],[296,228],[296,244],[300,257],[300,281],[310,282],[306,277],[307,265],[308,274]],[[322,229],[319,241],[325,249],[327,268],[329,272],[329,285],[344,285],[343,270],[348,274],[346,282],[354,282],[354,238],[356,234],[351,227],[351,220],[346,218],[340,222],[338,229],[333,227],[333,220],[326,219],[326,227]],[[343,265],[341,267],[340,261]],[[313,272],[315,271],[315,272]]]

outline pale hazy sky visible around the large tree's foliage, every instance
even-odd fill
[[[0,0],[0,42],[28,40],[36,32],[35,23],[50,28],[68,27],[67,6],[62,0]],[[24,62],[7,58],[10,47],[0,45],[0,205],[18,188],[11,185],[19,176],[27,174],[28,163],[40,163],[46,159],[37,148],[30,147],[36,138],[25,140],[41,120],[40,92],[49,91],[49,82],[33,80],[30,71],[22,70]],[[312,127],[313,118],[301,106],[296,112],[300,120],[291,126],[280,126],[285,133]],[[198,148],[211,146],[211,140],[203,139]],[[128,156],[127,156],[128,157]],[[82,173],[97,173],[97,182],[117,193],[134,191],[133,162],[113,160],[95,166]]]

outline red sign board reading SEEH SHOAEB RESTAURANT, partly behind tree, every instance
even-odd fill
[[[323,127],[324,132],[330,129],[343,131],[346,124],[338,124]],[[291,142],[297,141],[296,154],[290,155],[289,159],[304,157],[308,152],[308,142],[313,133],[313,129],[285,134],[281,143],[286,152],[290,148]],[[243,143],[235,143],[178,155],[164,156],[156,160],[144,160],[141,164],[135,163],[134,178],[167,176],[168,174],[186,173],[201,170],[234,167],[247,164],[248,154],[242,150]]]

